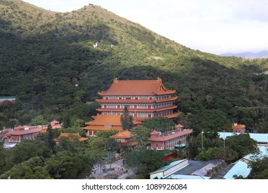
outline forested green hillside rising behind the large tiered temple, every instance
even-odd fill
[[[267,59],[191,50],[99,6],[60,13],[0,0],[0,96],[17,98],[1,105],[0,127],[40,114],[85,121],[95,113],[85,102],[115,77],[161,77],[177,90],[179,121],[192,128],[222,130],[238,121],[264,132],[268,76],[256,73],[267,69]]]

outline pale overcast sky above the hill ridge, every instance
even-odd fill
[[[92,3],[203,52],[268,50],[267,0],[24,1],[57,12],[71,12]]]

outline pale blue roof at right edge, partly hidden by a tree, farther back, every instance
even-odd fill
[[[234,132],[218,132],[222,139],[226,139],[227,136],[232,136],[234,134],[241,134],[241,133],[234,133]],[[267,133],[249,133],[251,139],[257,141],[257,145],[262,145],[268,148],[268,134]]]

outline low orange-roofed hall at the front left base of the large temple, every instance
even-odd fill
[[[96,136],[97,132],[117,130],[122,131],[121,115],[120,114],[97,114],[92,116],[93,121],[85,123],[87,126],[87,135]],[[134,125],[139,124],[140,121],[133,121]]]

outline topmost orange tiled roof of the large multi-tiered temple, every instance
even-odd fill
[[[118,81],[115,79],[111,87],[104,92],[98,92],[100,95],[155,95],[155,94],[172,94],[176,90],[168,90],[165,88],[162,80],[142,80],[142,81]]]

